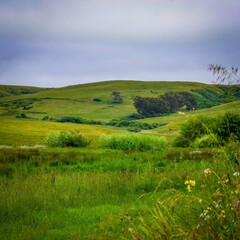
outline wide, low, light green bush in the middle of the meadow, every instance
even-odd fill
[[[103,148],[118,149],[123,151],[160,151],[167,149],[167,140],[164,137],[156,137],[140,134],[104,135],[99,139]]]

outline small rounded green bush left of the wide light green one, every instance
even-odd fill
[[[86,147],[91,140],[75,130],[50,133],[46,137],[45,142],[49,147]]]

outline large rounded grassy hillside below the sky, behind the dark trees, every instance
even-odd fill
[[[123,103],[113,103],[113,91],[120,92]],[[132,100],[135,96],[157,97],[168,91],[191,92],[202,104],[212,101],[218,104],[219,96],[226,94],[226,91],[217,85],[203,83],[107,81],[45,89],[28,95],[6,96],[0,99],[0,114],[16,116],[25,113],[39,120],[44,116],[75,116],[107,121],[136,113]],[[210,97],[214,100],[208,100]]]

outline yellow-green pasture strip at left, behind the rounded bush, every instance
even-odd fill
[[[93,126],[84,124],[55,123],[19,119],[13,117],[0,118],[0,145],[36,145],[44,144],[46,136],[51,132],[78,130],[93,140],[96,144],[99,136],[122,132],[117,128]]]

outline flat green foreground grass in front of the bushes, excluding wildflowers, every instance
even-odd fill
[[[205,169],[219,176],[233,172],[219,160],[223,155],[212,150],[171,149],[161,156],[104,149],[2,148],[0,154],[1,239],[132,239],[135,233],[151,239],[156,230],[146,224],[156,219],[149,211],[156,202],[169,192],[188,197],[187,179],[196,181],[191,196],[205,198],[218,186],[211,179],[207,182]],[[206,183],[208,187],[201,187]],[[184,216],[181,209],[179,216]],[[200,213],[199,208],[193,219]],[[141,232],[144,228],[149,234]]]

